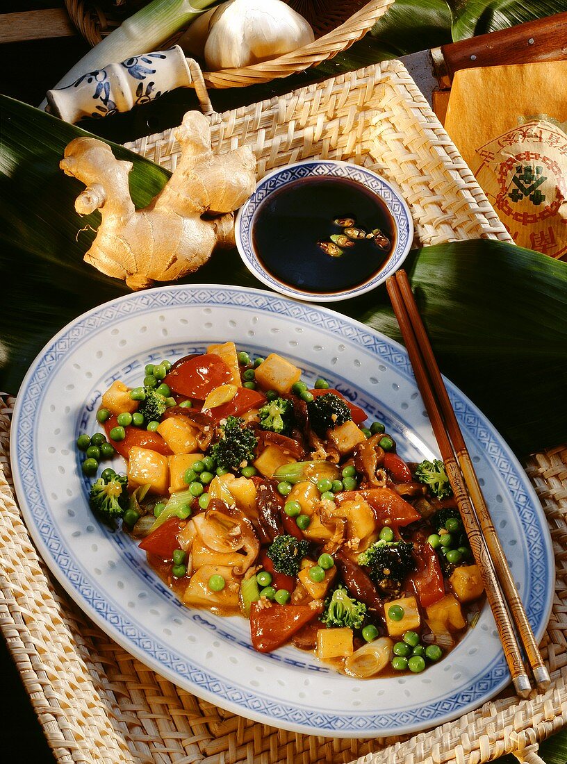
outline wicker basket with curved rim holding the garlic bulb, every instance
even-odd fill
[[[346,50],[372,28],[394,0],[286,0],[312,25],[316,40],[293,53],[242,69],[204,72],[212,88],[232,88],[267,83],[271,79],[309,69]],[[73,24],[90,45],[96,45],[119,23],[91,0],[65,0]]]

